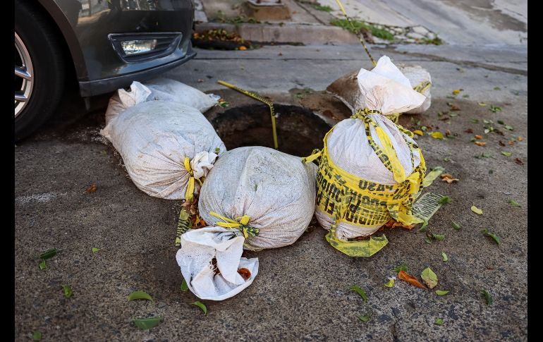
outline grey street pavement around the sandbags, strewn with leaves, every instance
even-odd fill
[[[445,240],[429,245],[417,228],[387,228],[389,245],[373,257],[357,259],[328,245],[324,229],[311,227],[286,248],[246,252],[260,258],[255,282],[223,302],[203,300],[209,310],[204,316],[190,305],[195,295],[180,291],[173,246],[180,203],[145,195],[130,181],[114,148],[98,134],[103,108],[85,115],[80,101],[66,101],[47,126],[15,147],[16,341],[29,341],[35,330],[42,331],[42,341],[525,341],[525,49],[494,49],[492,54],[413,47],[372,51],[376,57],[387,54],[393,61],[427,68],[434,83],[432,107],[413,121],[458,133],[456,139],[418,138],[429,168],[444,166],[460,178],[450,185],[434,181],[428,189],[453,199],[429,223]],[[252,100],[225,91],[216,80],[296,103],[288,93],[292,88],[324,90],[361,66],[370,68],[360,47],[276,46],[200,50],[197,59],[167,76],[220,93],[231,106]],[[460,88],[458,99],[447,98]],[[437,116],[449,110],[447,102],[460,107],[450,123]],[[503,111],[492,113],[477,102]],[[480,123],[473,123],[475,118]],[[484,137],[487,147],[479,147],[470,139],[484,135],[483,119],[504,121],[514,130],[504,137],[490,133]],[[401,118],[408,128],[413,121]],[[474,133],[464,133],[468,128]],[[499,145],[518,135],[524,140]],[[492,157],[474,157],[483,152]],[[523,165],[515,164],[515,158]],[[85,193],[92,183],[96,192]],[[521,207],[511,207],[510,199]],[[483,209],[482,216],[470,211],[474,204]],[[462,228],[451,228],[451,220]],[[483,236],[484,228],[500,236],[501,245]],[[49,248],[59,253],[42,271],[38,255]],[[93,254],[91,248],[100,250]],[[441,252],[449,262],[441,261]],[[439,277],[435,289],[450,293],[437,296],[403,281],[384,287],[391,269],[402,262],[417,277],[431,267]],[[349,291],[354,284],[365,289],[367,303]],[[63,297],[62,285],[73,288],[71,298]],[[493,305],[485,303],[482,288],[492,294]],[[135,290],[150,293],[154,303],[127,302]],[[131,323],[132,317],[152,314],[164,321],[149,331]],[[357,317],[364,314],[372,314],[370,321],[360,322]],[[435,325],[437,318],[444,324]]]

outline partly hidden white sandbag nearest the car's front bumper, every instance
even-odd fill
[[[185,106],[194,107],[201,113],[205,113],[218,103],[216,95],[205,94],[190,85],[169,78],[155,78],[145,83],[134,81],[129,91],[121,88],[109,99],[106,125],[129,107],[153,100],[181,102]]]

